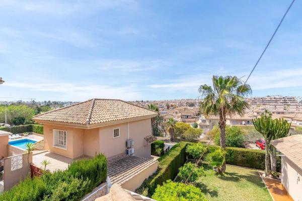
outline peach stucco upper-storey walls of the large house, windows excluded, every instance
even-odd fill
[[[144,137],[152,134],[150,118],[93,129],[44,124],[44,148],[69,158],[83,155],[93,157],[96,153],[104,153],[107,157],[111,157],[125,153],[128,124],[129,138],[134,140],[135,156],[149,158],[151,145],[145,144]],[[114,128],[120,129],[120,137],[113,138]],[[53,146],[53,129],[67,131],[66,149]]]

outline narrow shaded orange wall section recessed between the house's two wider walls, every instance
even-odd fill
[[[100,152],[100,133],[99,128],[86,129],[84,131],[84,154],[95,156]]]

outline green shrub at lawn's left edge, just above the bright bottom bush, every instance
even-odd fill
[[[181,181],[195,182],[198,177],[204,176],[203,167],[195,167],[195,164],[192,162],[185,163],[182,167],[179,168],[177,176]]]

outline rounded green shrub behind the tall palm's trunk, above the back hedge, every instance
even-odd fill
[[[215,134],[214,142],[220,145],[220,130]],[[229,147],[242,147],[244,142],[243,132],[236,126],[225,128],[225,145]]]

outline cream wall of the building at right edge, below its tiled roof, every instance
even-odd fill
[[[283,186],[294,201],[302,200],[302,170],[286,156],[282,157],[281,168],[281,182]]]

